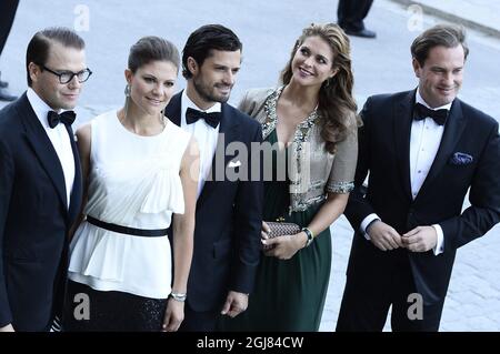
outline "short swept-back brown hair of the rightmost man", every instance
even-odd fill
[[[411,55],[417,59],[420,67],[423,67],[432,48],[438,45],[456,48],[459,44],[462,45],[463,58],[467,59],[469,48],[466,43],[466,30],[456,24],[437,24],[414,39],[411,44]]]

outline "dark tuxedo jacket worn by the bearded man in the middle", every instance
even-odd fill
[[[180,125],[181,110],[180,92],[170,100],[166,115]],[[250,162],[251,143],[262,141],[260,124],[227,103],[221,105],[219,134],[224,134],[224,139],[219,135],[212,174],[217,163],[219,170],[223,163],[229,171],[238,161]],[[243,143],[250,154],[222,153],[231,142]],[[248,172],[251,176],[251,163]],[[250,178],[243,181],[228,179],[227,173],[220,179],[216,173],[204,183],[197,202],[194,250],[188,280],[187,301],[194,311],[217,310],[226,301],[228,291],[252,291],[261,252],[262,203],[260,176],[259,181],[250,181]]]

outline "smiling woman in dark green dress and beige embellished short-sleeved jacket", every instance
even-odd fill
[[[262,124],[264,221],[302,227],[268,239],[249,306],[222,331],[318,331],[331,266],[329,226],[353,188],[358,155],[349,39],[332,23],[311,24],[281,73],[282,87],[247,92],[240,110]]]

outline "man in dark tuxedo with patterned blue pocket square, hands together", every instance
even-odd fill
[[[500,220],[499,124],[457,98],[468,51],[458,27],[424,31],[418,89],[364,104],[337,331],[381,331],[390,305],[393,331],[438,331],[457,249]]]

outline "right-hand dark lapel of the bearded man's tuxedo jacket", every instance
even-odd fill
[[[226,152],[228,151],[228,145],[231,142],[239,140],[238,127],[239,125],[236,122],[236,118],[232,117],[231,108],[228,104],[222,103],[219,139],[217,141],[216,154],[213,156],[212,168],[209,174],[211,180],[204,182],[203,190],[198,199],[198,205],[201,205],[201,203],[210,196],[217,185],[221,185],[221,182],[227,180],[226,166],[233,156],[228,155]]]

